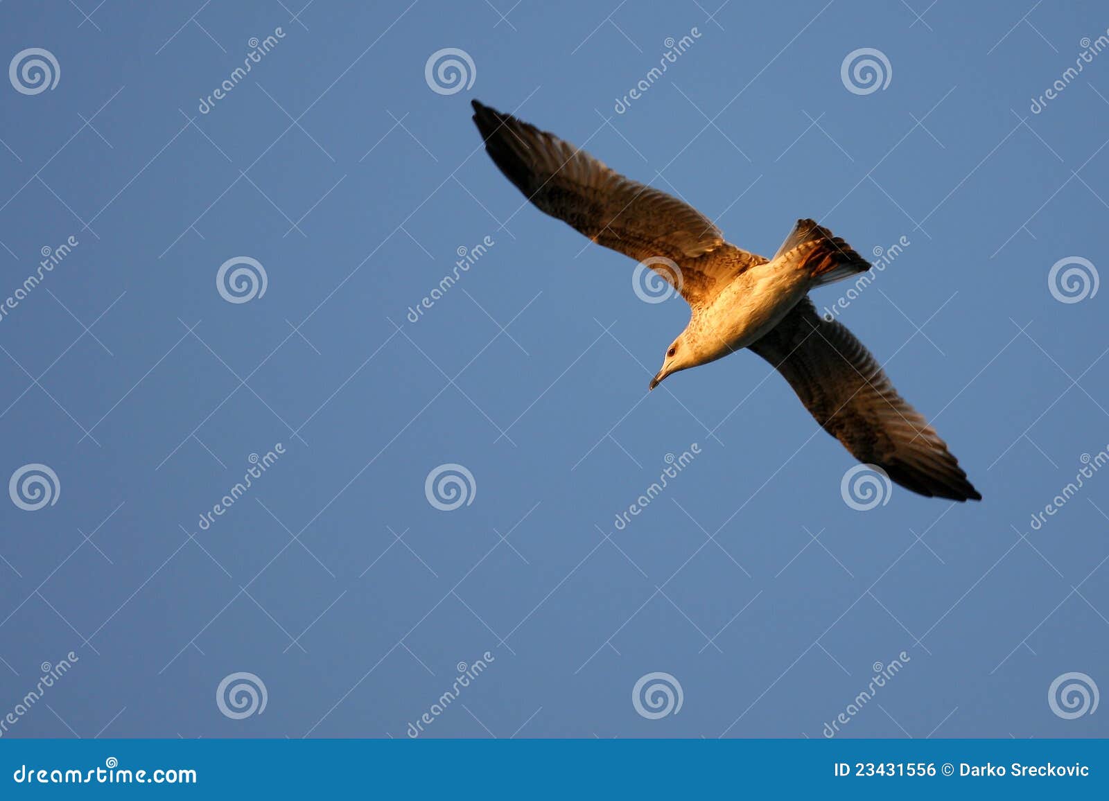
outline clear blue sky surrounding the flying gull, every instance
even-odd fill
[[[51,497],[0,504],[0,712],[71,666],[4,736],[1109,732],[1047,699],[1109,686],[1099,4],[302,2],[0,7],[2,468]],[[840,318],[984,500],[852,508],[750,353],[648,395],[688,308],[526,205],[475,98],[749,250],[906,243]]]

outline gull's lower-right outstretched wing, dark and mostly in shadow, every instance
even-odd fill
[[[807,297],[750,348],[790,382],[816,422],[859,462],[928,497],[981,500],[958,460],[874,356]]]

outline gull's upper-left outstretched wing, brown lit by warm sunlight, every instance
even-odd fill
[[[472,104],[489,158],[529,201],[593,242],[645,262],[691,304],[713,294],[719,281],[749,260],[764,261],[724,242],[712,221],[688,203],[624,178],[511,114]],[[678,264],[679,284],[660,256]]]

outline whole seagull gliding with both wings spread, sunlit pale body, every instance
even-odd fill
[[[472,101],[486,151],[540,211],[631,256],[690,305],[650,389],[741,348],[788,382],[816,422],[859,462],[926,497],[981,500],[928,422],[808,292],[869,270],[851,245],[798,220],[765,258],[724,240],[696,209],[609,169],[552,133]]]

